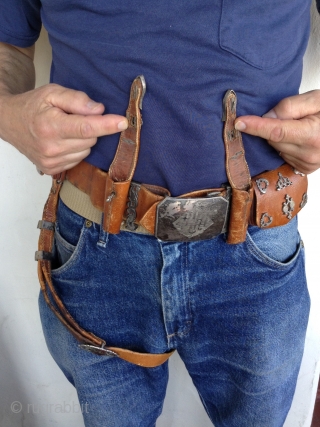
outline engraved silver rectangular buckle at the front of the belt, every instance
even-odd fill
[[[155,236],[165,242],[193,242],[225,233],[229,193],[227,198],[221,193],[195,199],[166,197],[157,207]]]

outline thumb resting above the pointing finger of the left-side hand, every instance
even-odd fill
[[[103,114],[104,105],[92,100],[86,93],[51,84],[46,87],[46,101],[53,107],[71,114]]]

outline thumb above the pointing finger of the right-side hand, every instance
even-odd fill
[[[283,99],[262,117],[300,119],[318,111],[320,111],[320,90],[313,90]]]

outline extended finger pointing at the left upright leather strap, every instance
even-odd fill
[[[116,114],[79,116],[55,111],[52,121],[61,139],[90,139],[127,129],[128,120]]]

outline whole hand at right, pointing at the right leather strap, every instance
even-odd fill
[[[238,117],[235,127],[266,139],[300,172],[320,168],[320,90],[285,98],[262,117]]]

